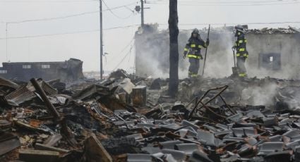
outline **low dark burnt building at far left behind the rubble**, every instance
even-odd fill
[[[61,62],[16,62],[2,63],[0,77],[27,82],[30,78],[44,80],[60,79],[64,82],[83,79],[83,61],[70,58]]]

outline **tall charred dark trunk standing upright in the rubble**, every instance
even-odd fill
[[[178,92],[178,13],[177,0],[169,0],[169,39],[170,39],[170,69],[169,69],[169,96],[173,98]]]

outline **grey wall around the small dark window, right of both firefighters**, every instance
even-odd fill
[[[279,78],[299,78],[300,35],[299,34],[248,34],[248,74]],[[262,66],[260,54],[280,54],[281,67],[270,70]],[[270,62],[272,64],[272,62]]]

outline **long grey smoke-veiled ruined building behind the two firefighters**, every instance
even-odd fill
[[[234,27],[217,27],[210,30],[205,75],[226,77],[232,74],[234,59],[232,46],[235,41]],[[200,30],[206,39],[208,29]],[[191,30],[179,32],[179,77],[187,77],[188,61],[183,60],[184,46],[191,36]],[[249,52],[246,67],[250,77],[299,78],[300,33],[294,27],[261,30],[246,30]],[[205,51],[202,51],[204,54]],[[200,61],[202,71],[203,61]],[[169,32],[157,30],[150,25],[146,30],[136,32],[136,74],[138,76],[167,77],[169,75]]]

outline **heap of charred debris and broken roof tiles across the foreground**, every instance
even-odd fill
[[[272,104],[246,105],[251,87],[271,84]],[[299,81],[179,87],[172,99],[167,80],[123,70],[74,85],[0,78],[0,161],[300,161]]]

